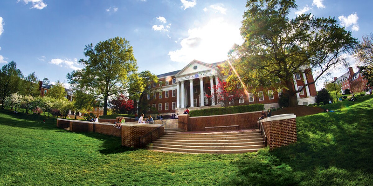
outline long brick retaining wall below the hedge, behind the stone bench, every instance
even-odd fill
[[[205,127],[209,126],[238,125],[238,129],[255,129],[260,115],[261,111],[196,117],[181,114],[178,128],[184,128],[186,131],[206,131]]]

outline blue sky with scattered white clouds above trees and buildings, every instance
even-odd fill
[[[297,0],[301,13],[335,17],[361,40],[372,32],[369,0]],[[23,75],[60,80],[84,66],[85,45],[120,36],[134,49],[139,71],[158,75],[192,60],[224,61],[239,33],[245,0],[1,0],[0,66],[15,61]],[[355,68],[355,59],[350,58]],[[334,70],[330,78],[347,70]],[[317,90],[323,82],[317,83]]]

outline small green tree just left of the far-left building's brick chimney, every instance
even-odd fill
[[[19,92],[21,95],[30,95],[30,96],[39,96],[39,80],[38,77],[35,76],[35,72],[30,73],[24,80],[21,81],[21,87],[19,88]]]

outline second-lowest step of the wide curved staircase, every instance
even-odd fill
[[[170,142],[170,141],[157,141],[154,142],[153,145],[157,146],[164,146],[164,145],[179,145],[179,146],[249,146],[249,145],[263,145],[263,140],[259,139],[257,141],[252,142]]]

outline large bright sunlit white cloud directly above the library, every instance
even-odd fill
[[[233,44],[242,44],[240,25],[231,25],[223,18],[210,20],[201,28],[189,29],[189,36],[180,42],[181,48],[169,51],[172,61],[188,63],[192,60],[218,62],[228,58]]]

